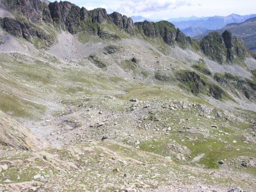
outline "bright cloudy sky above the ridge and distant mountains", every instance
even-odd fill
[[[53,1],[53,0],[51,0]],[[255,0],[69,0],[88,10],[105,8],[127,16],[168,19],[195,16],[227,16],[232,13],[255,14]]]

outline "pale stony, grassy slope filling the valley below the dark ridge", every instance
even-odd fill
[[[200,59],[213,73],[253,78],[254,60],[250,70],[218,65],[141,37],[62,33],[38,50],[2,36],[0,110],[52,147],[0,145],[0,191],[255,191],[255,102],[229,92],[233,100],[217,101],[155,80],[155,72],[171,78]]]

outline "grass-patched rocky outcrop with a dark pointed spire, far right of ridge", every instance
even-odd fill
[[[238,37],[233,37],[230,31],[224,31],[222,35],[212,32],[200,41],[202,51],[210,59],[220,64],[233,63],[236,58],[245,59],[250,56],[245,43]]]

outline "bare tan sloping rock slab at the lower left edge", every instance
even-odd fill
[[[40,150],[49,147],[16,120],[0,111],[0,143],[23,150]]]

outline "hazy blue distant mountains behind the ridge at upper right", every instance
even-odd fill
[[[168,22],[171,22],[175,25],[176,28],[179,28],[185,35],[190,37],[195,37],[197,35],[205,34],[209,30],[220,30],[230,23],[242,23],[245,20],[256,17],[256,14],[250,15],[237,15],[231,14],[228,16],[211,16],[211,17],[196,17],[191,16],[189,18],[174,18],[168,19]],[[143,16],[132,16],[134,22],[143,22],[144,20],[156,22],[161,19],[147,19]]]

